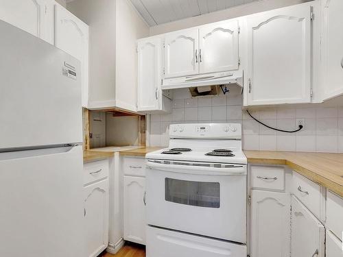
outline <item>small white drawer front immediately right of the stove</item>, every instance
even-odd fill
[[[252,188],[276,191],[285,189],[285,169],[283,167],[251,166]]]

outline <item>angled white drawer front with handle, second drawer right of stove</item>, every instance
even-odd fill
[[[320,185],[293,171],[292,193],[320,219]]]

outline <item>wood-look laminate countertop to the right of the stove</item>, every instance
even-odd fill
[[[343,197],[343,154],[244,151],[249,163],[287,165]]]

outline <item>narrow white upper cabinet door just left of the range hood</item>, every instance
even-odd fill
[[[159,109],[161,98],[161,38],[138,42],[138,110]]]

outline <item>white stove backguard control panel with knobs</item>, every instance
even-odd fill
[[[169,138],[241,139],[240,123],[171,124]]]

